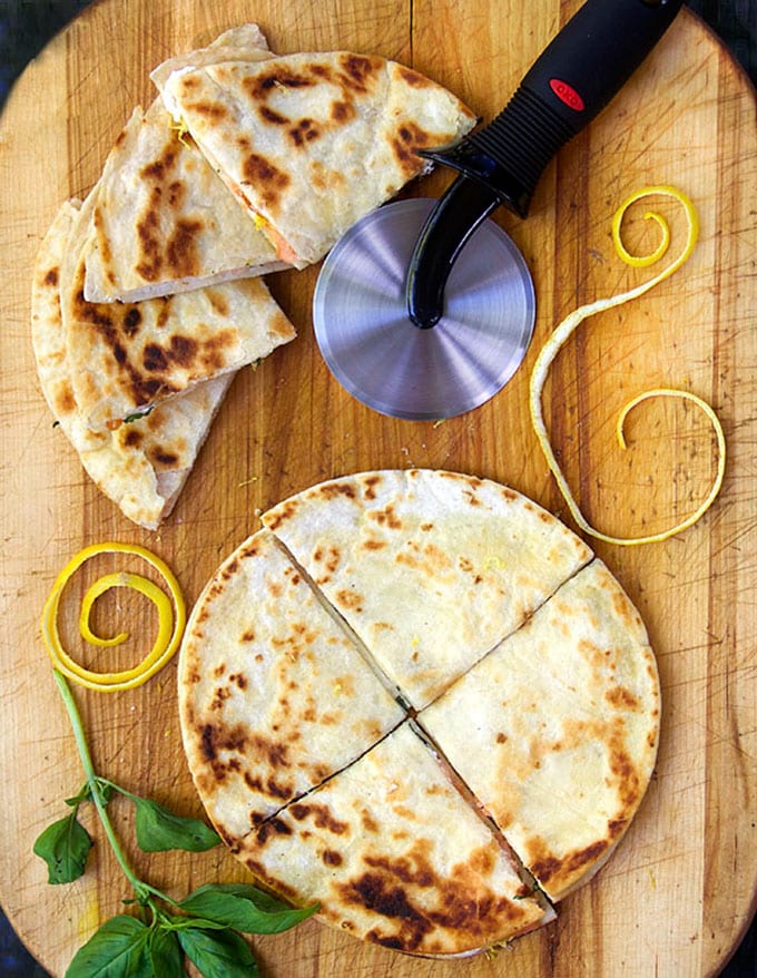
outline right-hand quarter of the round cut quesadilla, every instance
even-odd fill
[[[608,858],[655,765],[660,690],[639,614],[594,560],[419,722],[561,900]]]

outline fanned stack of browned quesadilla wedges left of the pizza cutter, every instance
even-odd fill
[[[118,443],[135,463],[145,444],[156,454],[151,439],[165,440],[166,426],[180,446],[158,452],[157,469],[142,459],[140,485],[149,471],[170,483],[158,493],[165,505],[153,490],[142,499],[149,516],[136,521],[148,528],[170,511],[234,372],[295,335],[262,276],[317,261],[421,172],[415,150],[474,123],[459,99],[393,61],[277,57],[256,25],[168,59],[153,79],[160,97],[135,109],[83,206],[69,208],[57,291],[39,286],[46,241],[32,295],[36,351],[42,334],[63,351],[77,450]],[[120,430],[148,415],[149,438]],[[135,518],[114,458],[88,456],[85,467]]]

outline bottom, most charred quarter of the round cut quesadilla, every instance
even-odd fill
[[[413,955],[474,953],[554,917],[410,724],[236,854],[285,899],[319,901],[324,922]]]

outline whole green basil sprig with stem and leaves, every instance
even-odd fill
[[[63,676],[53,676],[66,704],[87,781],[66,799],[68,815],[49,825],[33,851],[48,868],[50,883],[78,879],[92,840],[78,820],[79,806],[92,802],[106,838],[131,884],[139,916],[119,913],[107,920],[73,956],[66,978],[184,978],[185,956],[205,978],[256,978],[258,968],[245,933],[281,933],[306,920],[317,904],[293,908],[248,883],[208,883],[183,900],[139,879],[128,863],[107,812],[114,794],[135,805],[135,833],[145,852],[183,849],[203,852],[218,834],[199,819],[176,815],[150,799],[100,777],[92,766],[81,717]]]

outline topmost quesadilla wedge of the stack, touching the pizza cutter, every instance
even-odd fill
[[[318,261],[360,217],[424,167],[416,150],[456,141],[475,117],[395,61],[347,51],[228,61],[154,79],[166,107],[282,261]]]

